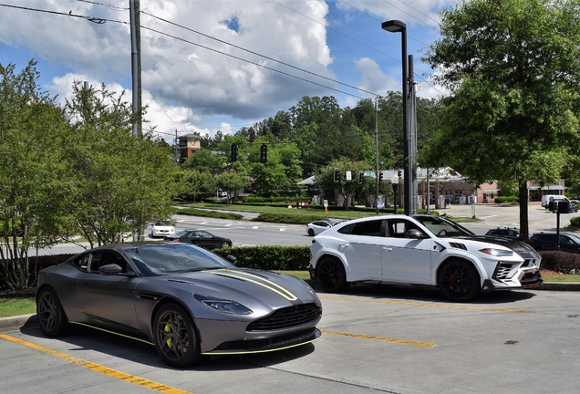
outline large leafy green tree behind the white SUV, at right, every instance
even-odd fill
[[[527,181],[559,180],[578,162],[578,26],[576,0],[461,2],[441,12],[441,38],[424,57],[451,95],[421,165],[515,181],[523,239]]]

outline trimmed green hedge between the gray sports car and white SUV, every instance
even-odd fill
[[[241,246],[213,249],[225,257],[232,254],[235,264],[243,268],[266,270],[306,271],[310,263],[308,246]]]

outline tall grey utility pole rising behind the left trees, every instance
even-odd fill
[[[140,35],[140,0],[129,0],[129,17],[131,30],[131,75],[133,88],[133,114],[141,111],[141,35]],[[143,135],[141,117],[133,123],[133,135]]]

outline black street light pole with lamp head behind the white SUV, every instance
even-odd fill
[[[413,179],[411,176],[411,166],[409,162],[409,103],[408,103],[408,76],[407,76],[407,25],[399,20],[390,20],[383,22],[381,27],[391,33],[401,34],[401,61],[403,77],[403,177],[405,179],[405,191],[403,193],[403,203],[405,214],[409,214],[411,208],[411,199],[413,194]]]

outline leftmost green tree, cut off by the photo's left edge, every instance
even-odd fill
[[[0,64],[0,259],[11,290],[34,285],[29,248],[57,244],[67,195],[66,121],[36,85],[31,60],[20,73]]]

